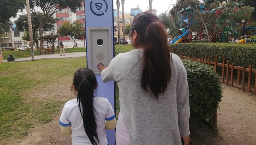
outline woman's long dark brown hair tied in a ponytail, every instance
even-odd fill
[[[137,15],[132,30],[138,33],[134,46],[144,48],[141,87],[151,91],[158,99],[158,94],[164,94],[171,78],[171,55],[166,31],[158,17],[150,12]]]

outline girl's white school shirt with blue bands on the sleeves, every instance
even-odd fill
[[[97,124],[99,145],[107,145],[105,120],[115,119],[114,110],[108,99],[94,97],[94,116]],[[64,127],[71,125],[72,145],[92,145],[83,127],[83,118],[78,108],[77,99],[70,100],[64,105],[60,116],[60,125]]]

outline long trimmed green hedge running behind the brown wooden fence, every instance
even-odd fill
[[[218,56],[218,62],[229,61],[237,66],[252,64],[256,69],[256,44],[231,44],[231,43],[178,43],[170,45],[175,54],[183,52],[184,56],[204,58],[210,55],[211,61],[215,61],[215,54]]]

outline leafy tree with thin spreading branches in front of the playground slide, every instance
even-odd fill
[[[237,22],[247,21],[250,19],[252,10],[249,7],[239,8],[236,3],[221,3],[218,0],[208,4],[209,7],[204,7],[203,4],[199,0],[180,0],[170,13],[172,15],[176,15],[178,12],[181,12],[181,15],[185,13],[192,20],[190,29],[197,30],[198,33],[206,31],[208,42],[211,42],[216,34],[228,26],[230,22],[233,24],[235,19],[233,15],[237,15],[239,18]]]

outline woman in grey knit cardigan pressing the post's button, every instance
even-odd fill
[[[134,18],[131,40],[136,48],[119,54],[102,80],[119,87],[117,145],[181,145],[189,142],[187,74],[181,59],[171,54],[158,17],[143,12]]]

